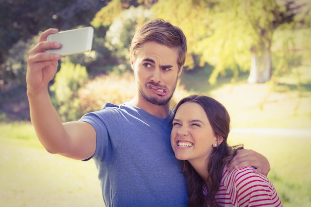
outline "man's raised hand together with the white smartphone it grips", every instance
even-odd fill
[[[26,73],[28,92],[46,90],[57,71],[58,60],[65,55],[90,51],[92,40],[92,27],[61,32],[51,28],[42,32],[39,43],[29,51]]]

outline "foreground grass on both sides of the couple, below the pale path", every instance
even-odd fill
[[[13,131],[11,131],[13,130]],[[5,207],[104,206],[92,161],[49,154],[29,123],[1,124],[0,197]],[[24,136],[19,137],[20,131]],[[3,132],[3,133],[2,133]],[[297,136],[293,136],[293,135]],[[233,130],[230,143],[264,154],[284,207],[311,206],[311,135],[304,131]],[[18,198],[18,199],[16,199]]]

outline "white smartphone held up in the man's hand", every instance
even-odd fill
[[[47,41],[55,41],[62,44],[59,49],[49,49],[46,53],[55,53],[62,56],[85,53],[92,49],[93,27],[83,27],[50,34]]]

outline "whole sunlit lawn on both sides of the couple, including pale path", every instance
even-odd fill
[[[311,69],[300,68],[301,90],[289,74],[277,85],[235,85],[220,80],[211,87],[206,76],[189,73],[181,84],[217,98],[232,118],[231,143],[264,154],[284,207],[311,206]],[[230,81],[230,80],[229,80]],[[0,198],[5,207],[103,207],[92,160],[71,160],[49,154],[29,123],[0,124]]]

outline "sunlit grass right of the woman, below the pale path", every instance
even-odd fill
[[[311,206],[311,130],[308,134],[297,131],[297,136],[286,133],[232,132],[229,139],[231,144],[244,143],[245,148],[268,158],[271,166],[268,178],[284,207]]]

